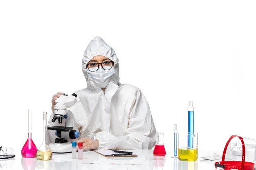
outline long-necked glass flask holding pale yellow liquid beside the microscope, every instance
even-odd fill
[[[46,117],[47,112],[43,112],[43,143],[37,151],[36,157],[38,160],[48,161],[52,159],[52,150],[46,143]]]

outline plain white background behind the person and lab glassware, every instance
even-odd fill
[[[141,89],[157,131],[173,151],[194,101],[201,150],[230,135],[256,139],[256,2],[1,1],[0,145],[22,147],[27,110],[39,148],[52,95],[86,88],[83,51],[102,37],[119,57],[120,82]],[[16,153],[18,154],[18,153]]]

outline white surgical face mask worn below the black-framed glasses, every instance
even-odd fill
[[[99,66],[99,69],[94,72],[87,68],[87,73],[97,86],[100,88],[105,88],[110,82],[111,75],[115,73],[115,70],[113,67],[110,70],[104,70],[101,66]]]

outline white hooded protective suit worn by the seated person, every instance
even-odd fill
[[[85,67],[97,55],[115,62],[115,73],[105,91],[92,81]],[[74,114],[79,139],[97,139],[98,150],[152,149],[156,129],[148,102],[139,88],[119,83],[119,64],[114,49],[100,37],[95,37],[85,49],[82,62],[87,88],[74,92],[77,102],[68,108]],[[59,126],[57,121],[52,123],[52,118],[53,113],[49,126]],[[48,130],[48,142],[53,142],[55,138],[54,131]]]

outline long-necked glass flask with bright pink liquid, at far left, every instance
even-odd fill
[[[32,110],[28,113],[28,137],[24,146],[21,149],[21,156],[24,158],[35,158],[37,148],[32,140]]]

